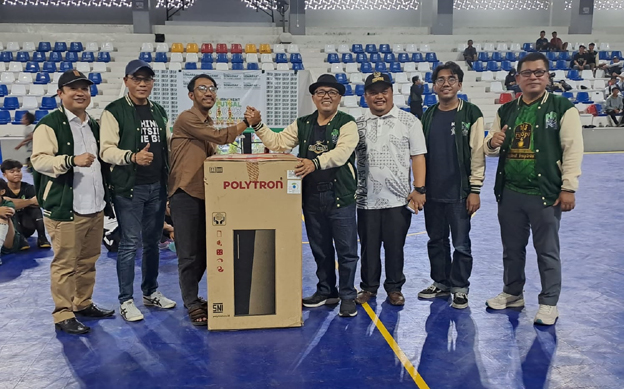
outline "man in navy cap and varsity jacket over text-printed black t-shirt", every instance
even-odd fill
[[[143,319],[134,304],[134,258],[142,240],[143,304],[170,309],[176,303],[158,291],[158,243],[167,204],[170,137],[167,113],[149,100],[154,71],[133,60],[126,66],[128,94],[110,103],[102,113],[102,160],[114,166],[112,190],[121,229],[117,254],[119,303],[126,321]]]

